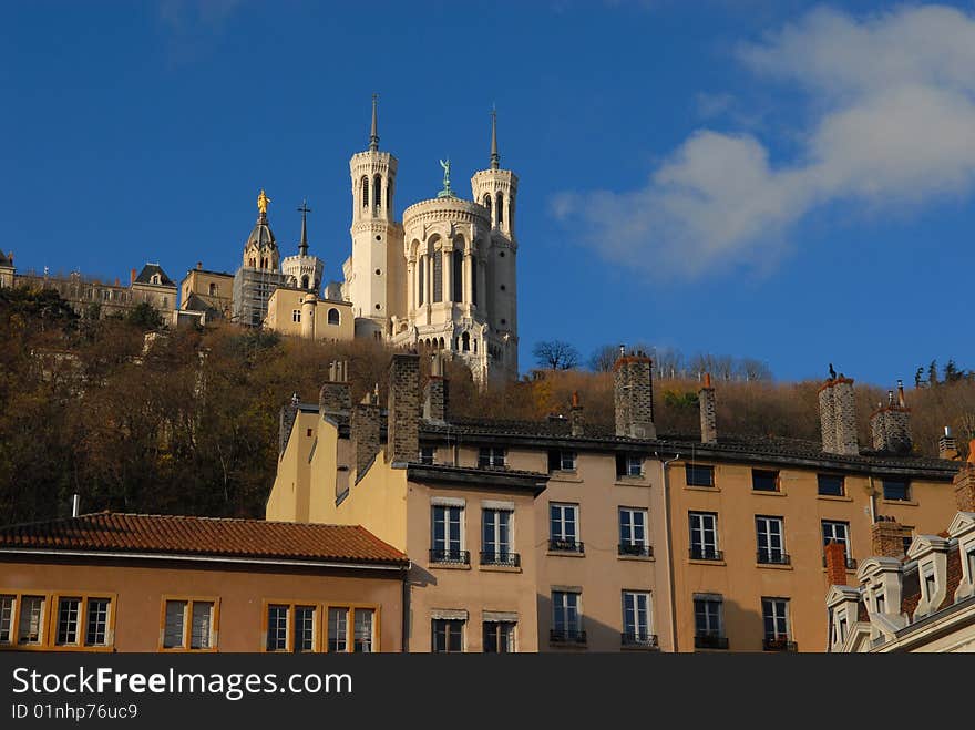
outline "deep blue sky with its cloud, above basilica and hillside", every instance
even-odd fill
[[[398,215],[444,156],[470,194],[496,104],[523,369],[552,338],[975,367],[972,3],[37,1],[4,9],[0,90],[21,269],[235,270],[264,187],[286,253],[308,197],[339,279],[378,92]]]

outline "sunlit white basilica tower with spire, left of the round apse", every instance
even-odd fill
[[[402,227],[393,218],[397,158],[379,150],[377,101],[372,96],[369,148],[352,155],[352,255],[343,265],[345,297],[353,305],[356,336],[381,339],[390,318],[404,308]]]

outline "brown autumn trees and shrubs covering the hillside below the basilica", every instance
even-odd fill
[[[156,333],[146,312],[79,320],[50,291],[0,289],[0,522],[82,510],[263,516],[277,462],[278,413],[318,400],[332,359],[350,361],[353,399],[379,383],[391,351],[370,341],[308,342],[225,326]],[[425,370],[428,363],[422,361]],[[451,414],[533,420],[568,412],[613,422],[612,373],[534,371],[480,393],[450,364]],[[717,382],[720,434],[819,439],[817,382]],[[656,382],[661,434],[699,433],[696,380]],[[858,383],[861,443],[885,391]],[[918,453],[943,425],[975,434],[975,383],[911,389]]]

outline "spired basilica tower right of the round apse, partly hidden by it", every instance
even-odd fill
[[[491,162],[471,178],[474,201],[488,210],[490,245],[482,251],[485,268],[483,307],[489,318],[489,356],[492,369],[517,377],[517,287],[515,199],[517,175],[501,168],[497,152],[497,114],[491,112]],[[480,304],[480,302],[479,302]]]

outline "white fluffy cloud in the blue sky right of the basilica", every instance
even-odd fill
[[[808,96],[792,161],[753,135],[699,130],[636,191],[563,193],[553,210],[605,256],[664,275],[758,268],[817,206],[874,209],[967,194],[975,182],[975,16],[814,10],[739,48],[757,75]]]

